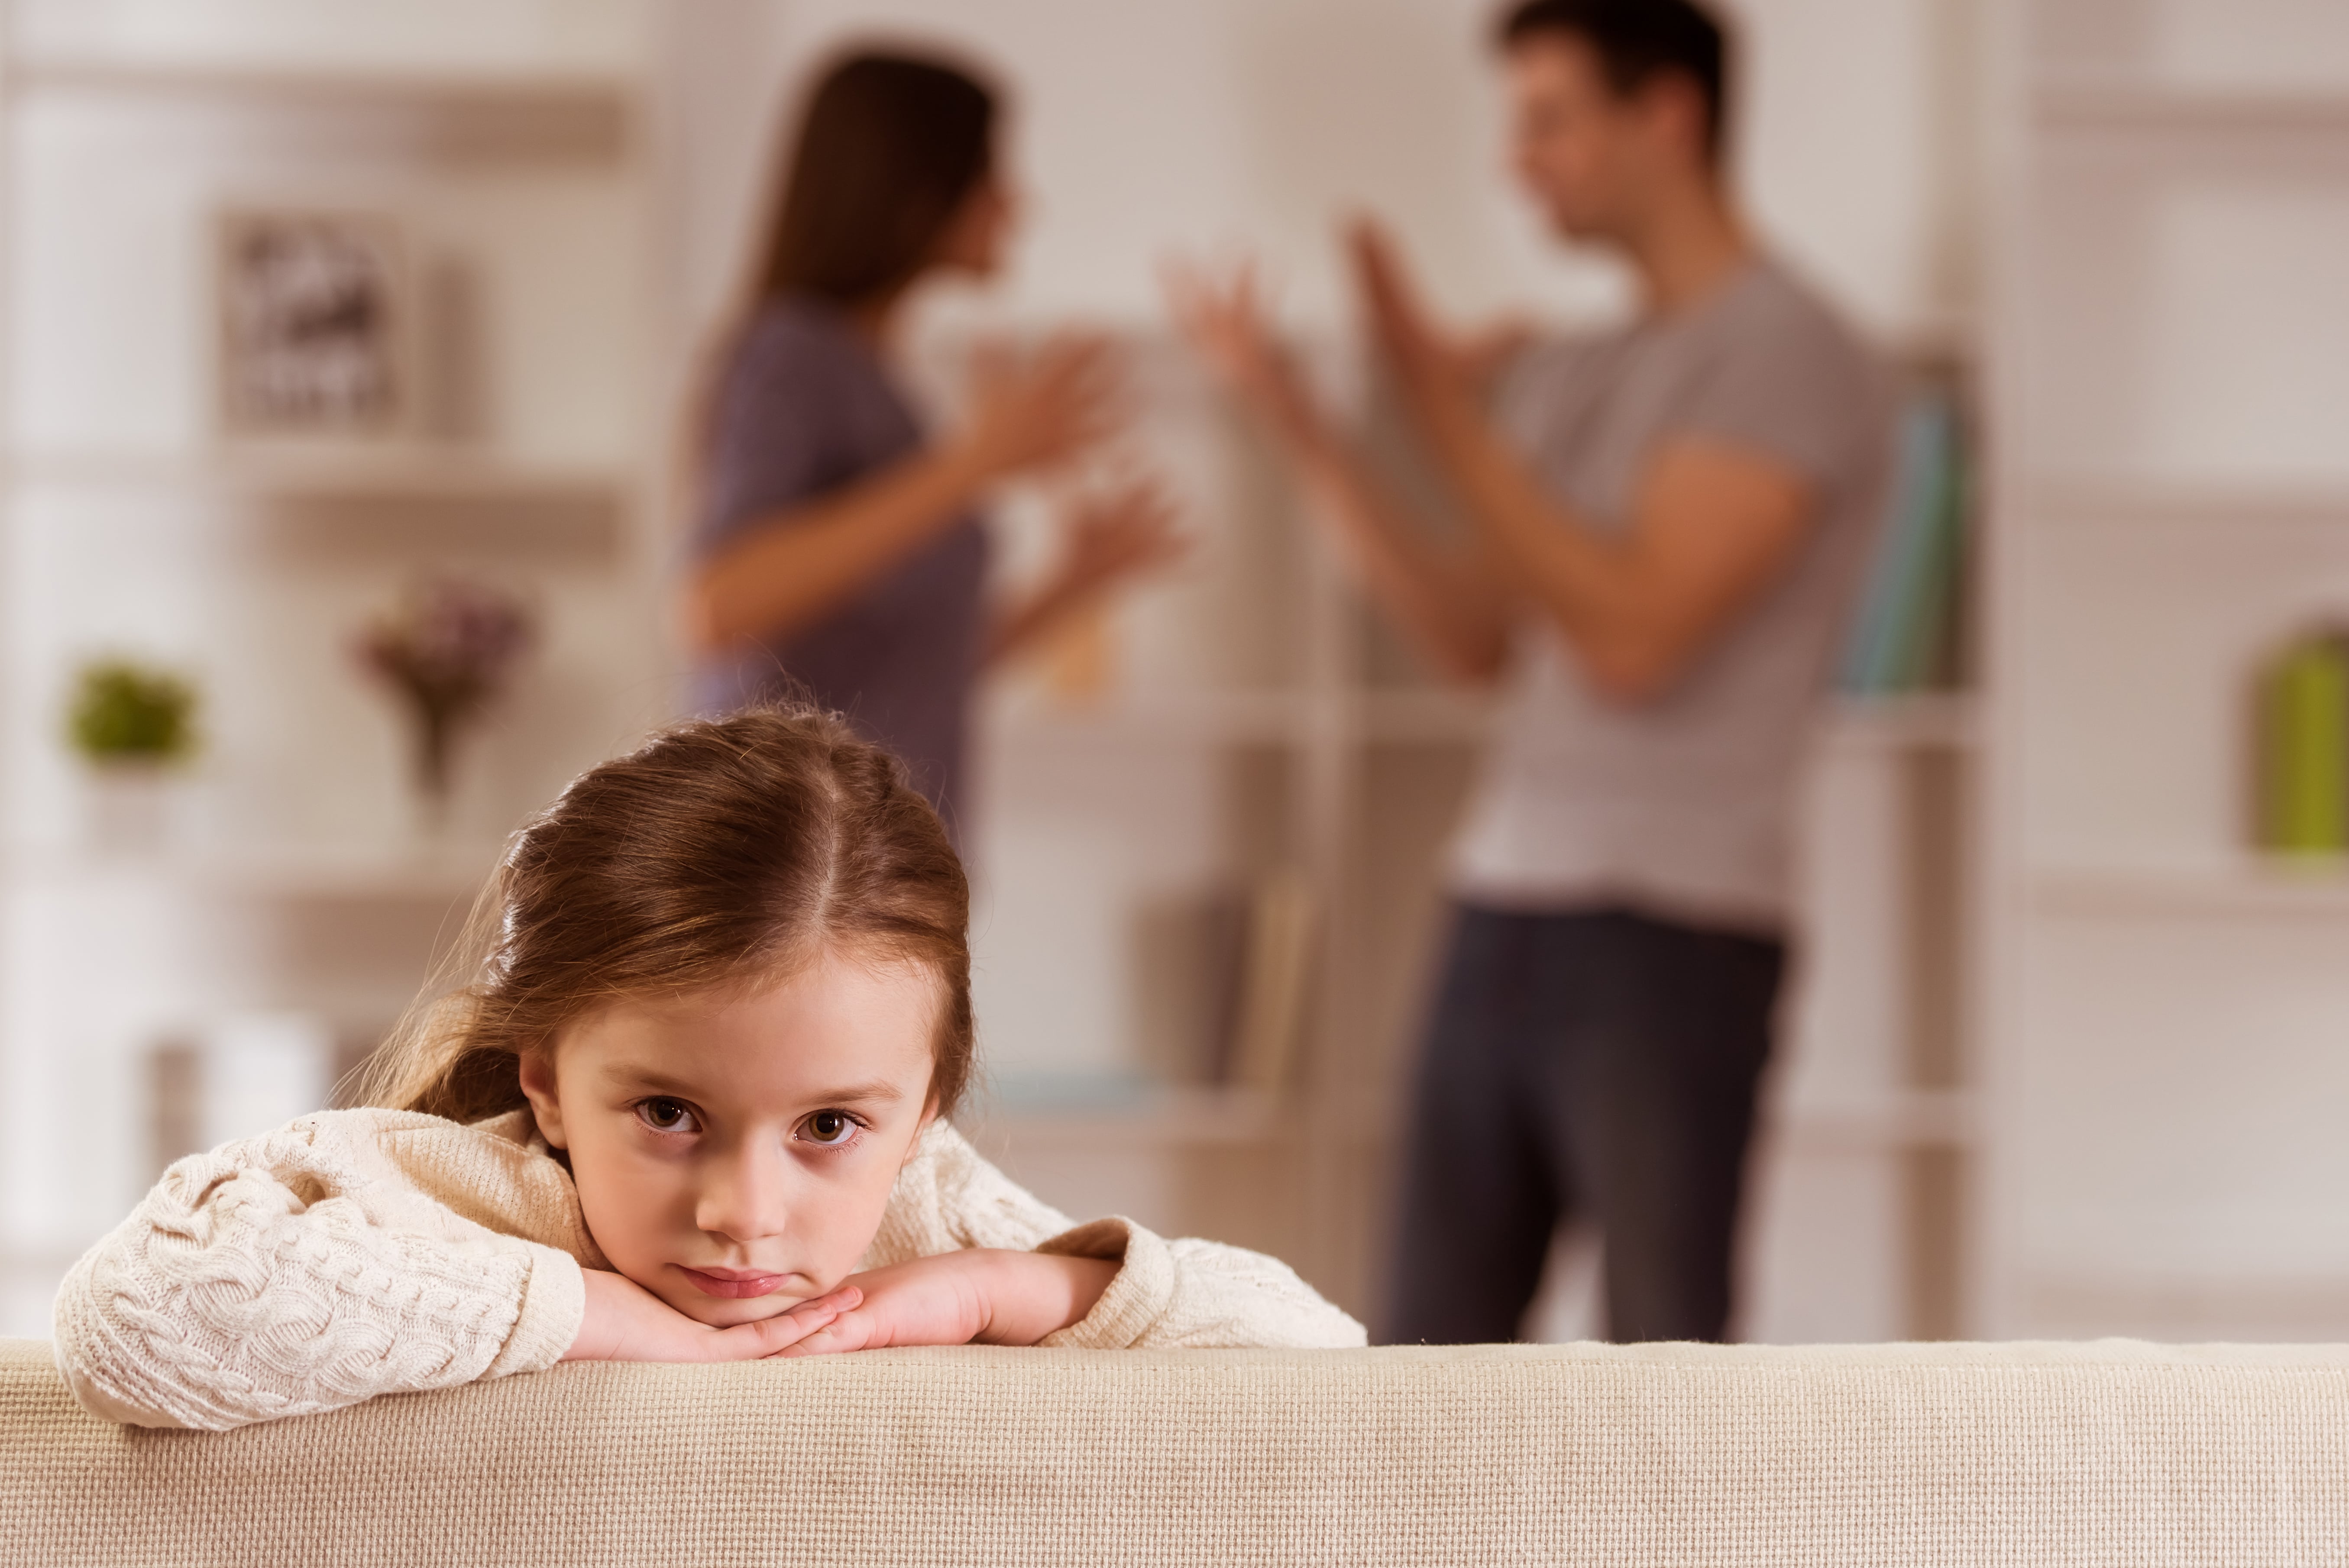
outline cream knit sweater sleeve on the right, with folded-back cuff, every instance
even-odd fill
[[[1297,1272],[1221,1242],[1165,1239],[1128,1218],[1071,1225],[944,1122],[923,1136],[890,1199],[871,1263],[961,1246],[1104,1258],[1118,1275],[1045,1345],[1076,1350],[1351,1350],[1367,1336]]]

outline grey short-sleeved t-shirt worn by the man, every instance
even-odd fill
[[[1818,514],[1778,580],[1656,702],[1609,704],[1550,620],[1527,617],[1454,850],[1459,897],[1785,922],[1795,777],[1884,512],[1889,392],[1832,310],[1771,261],[1687,312],[1513,366],[1501,423],[1593,528],[1628,523],[1675,437],[1792,467],[1816,486]]]

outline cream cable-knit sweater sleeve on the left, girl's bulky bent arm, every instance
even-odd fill
[[[223,1430],[561,1359],[580,1265],[420,1192],[397,1150],[432,1129],[472,1134],[324,1113],[176,1162],[59,1289],[75,1399],[108,1420]]]

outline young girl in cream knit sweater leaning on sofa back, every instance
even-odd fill
[[[1273,1258],[1071,1225],[963,1143],[968,908],[937,812],[834,718],[590,770],[385,1108],[164,1171],[66,1277],[59,1366],[99,1415],[216,1430],[568,1359],[1360,1345]]]

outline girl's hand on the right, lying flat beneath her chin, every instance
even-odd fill
[[[787,1357],[886,1345],[1034,1345],[1092,1312],[1116,1263],[1036,1251],[949,1251],[855,1275],[862,1303],[787,1347]]]

